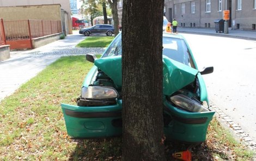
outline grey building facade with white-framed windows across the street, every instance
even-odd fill
[[[255,30],[256,0],[165,0],[164,7],[168,21],[175,18],[180,27],[215,28],[229,10],[231,29]]]

